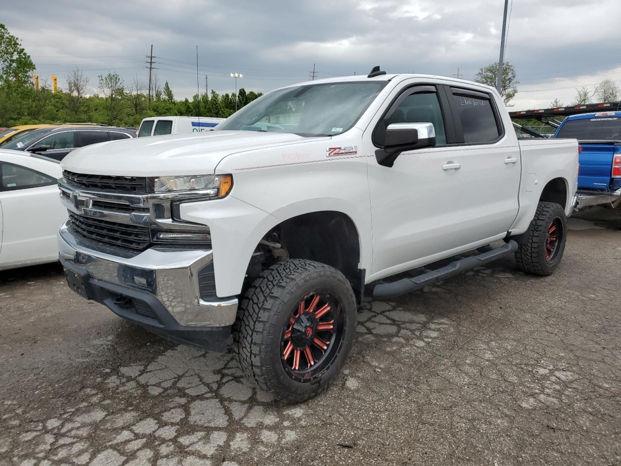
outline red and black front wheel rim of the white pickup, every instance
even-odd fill
[[[313,380],[324,372],[340,349],[343,316],[329,293],[314,291],[289,313],[281,338],[281,360],[289,377]]]

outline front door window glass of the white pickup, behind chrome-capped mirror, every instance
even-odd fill
[[[407,96],[388,116],[392,123],[432,123],[435,129],[435,144],[446,144],[446,132],[442,108],[435,92],[420,92]]]

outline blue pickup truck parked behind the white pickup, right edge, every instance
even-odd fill
[[[621,111],[568,116],[554,137],[578,139],[578,208],[614,203],[621,194]]]

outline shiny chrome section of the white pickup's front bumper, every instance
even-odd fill
[[[198,272],[212,261],[211,250],[152,247],[122,258],[80,245],[67,223],[58,231],[58,251],[96,280],[153,295],[182,326],[224,327],[235,321],[237,298],[200,298]]]

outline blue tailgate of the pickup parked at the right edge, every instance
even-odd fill
[[[581,190],[614,190],[611,186],[612,158],[621,153],[619,141],[579,141],[580,171],[578,173],[578,189]],[[617,181],[617,180],[614,180]],[[621,183],[621,180],[619,180]]]

